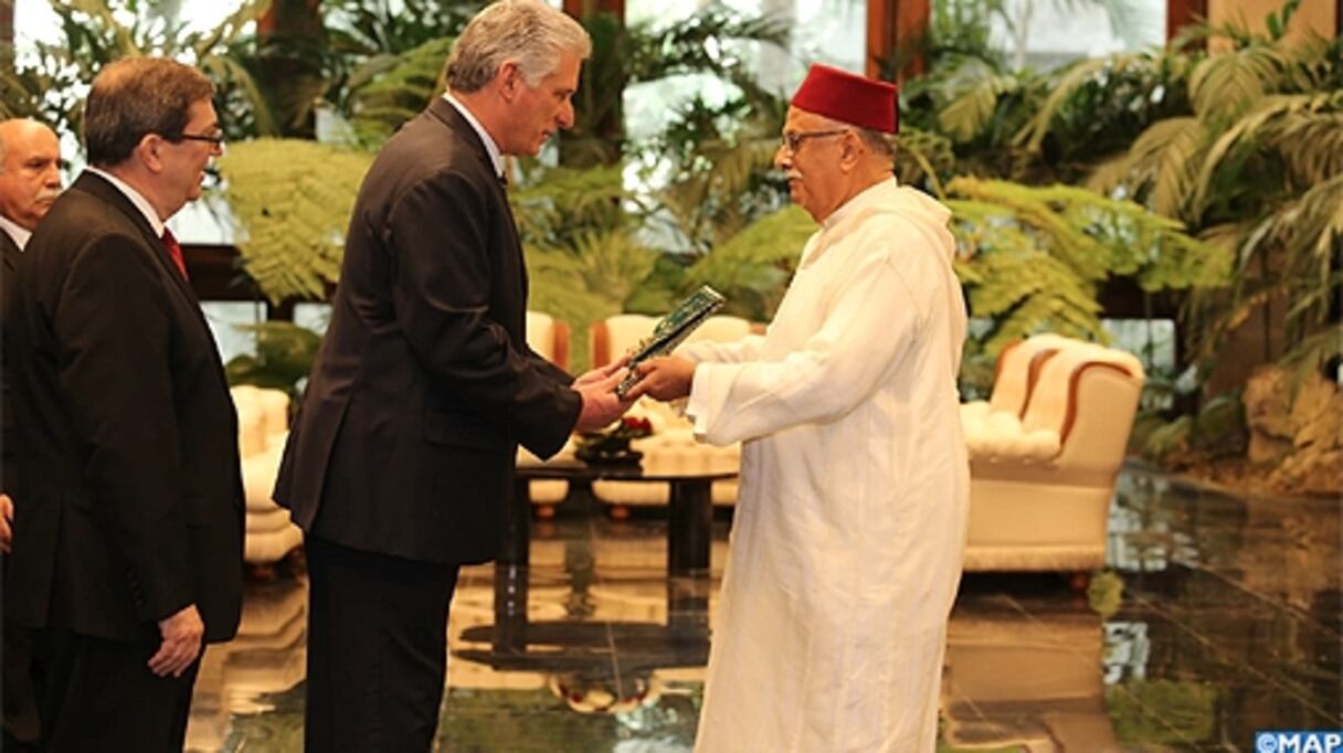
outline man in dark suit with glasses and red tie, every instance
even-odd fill
[[[5,607],[39,630],[44,750],[180,752],[201,642],[238,627],[238,419],[164,228],[219,153],[212,95],[171,60],[99,71],[93,166],[19,263]]]

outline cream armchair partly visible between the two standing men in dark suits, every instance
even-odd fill
[[[243,560],[269,565],[283,560],[304,542],[304,534],[271,499],[279,458],[289,438],[289,395],[252,385],[234,387],[238,408],[238,454],[247,498]]]

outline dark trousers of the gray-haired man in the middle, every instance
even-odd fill
[[[428,752],[447,676],[457,565],[308,536],[308,753]]]

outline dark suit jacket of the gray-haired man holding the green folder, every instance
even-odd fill
[[[506,196],[479,137],[436,99],[364,179],[275,499],[355,549],[494,557],[517,444],[555,454],[582,407],[525,322]]]

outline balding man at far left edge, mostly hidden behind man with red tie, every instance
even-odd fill
[[[0,122],[0,287],[4,317],[9,317],[17,285],[19,255],[38,223],[60,196],[60,141],[50,128],[24,118]],[[5,360],[8,362],[8,358]],[[0,550],[9,553],[13,489],[17,468],[17,432],[9,383],[0,370]],[[4,624],[4,750],[20,750],[38,741],[38,707],[32,694],[28,631]]]

